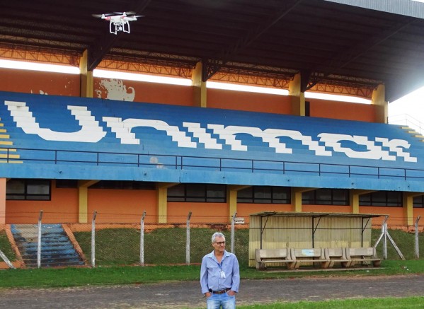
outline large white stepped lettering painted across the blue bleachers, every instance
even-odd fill
[[[91,116],[91,112],[86,106],[68,105],[71,115],[74,115],[81,129],[77,132],[57,132],[51,129],[40,128],[40,124],[33,117],[32,112],[26,106],[25,102],[4,101],[5,105],[16,122],[16,126],[23,129],[26,134],[36,134],[47,141],[82,141],[87,143],[97,143],[106,132],[100,126],[98,121]],[[177,143],[178,147],[197,148],[197,142],[188,136],[179,127],[173,126],[158,119],[137,119],[120,117],[103,117],[103,122],[110,128],[120,144],[141,144],[142,141],[136,137],[132,129],[137,127],[148,127],[159,132],[165,132],[171,136],[172,141]],[[199,143],[205,145],[207,149],[222,150],[222,144],[208,133],[200,123],[183,122],[183,126],[193,137],[198,139]],[[258,127],[241,127],[230,125],[224,127],[222,124],[207,124],[207,129],[212,130],[213,134],[219,136],[219,140],[231,147],[233,151],[248,151],[248,146],[243,145],[242,140],[237,139],[237,134],[248,134],[259,138],[263,143],[268,144],[270,148],[275,149],[276,153],[293,153],[294,148],[287,146],[280,138],[288,137],[293,141],[300,141],[309,151],[314,151],[316,156],[333,156],[333,153],[344,153],[348,158],[372,159],[395,161],[396,157],[403,158],[406,162],[417,162],[417,158],[406,152],[411,145],[403,139],[387,139],[376,137],[374,141],[368,136],[357,136],[336,133],[321,133],[317,137],[319,141],[312,136],[305,136],[299,131],[285,129],[260,129]],[[160,135],[157,139],[161,139]],[[353,146],[342,145],[343,142],[349,142]],[[323,143],[321,146],[319,142]],[[376,144],[377,143],[377,144]],[[357,145],[357,146],[355,146]],[[389,150],[386,150],[387,148]],[[331,150],[332,149],[332,150]]]

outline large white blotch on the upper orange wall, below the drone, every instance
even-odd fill
[[[97,98],[120,101],[134,101],[135,90],[133,87],[125,86],[121,79],[101,79],[95,87]]]

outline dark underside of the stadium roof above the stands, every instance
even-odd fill
[[[338,3],[337,3],[338,2]],[[384,4],[382,4],[384,3]],[[347,5],[350,4],[350,5]],[[413,0],[1,1],[0,47],[375,88],[393,101],[424,86],[424,4]],[[134,11],[131,33],[92,14]],[[0,57],[2,55],[0,54]],[[363,95],[363,96],[369,96]]]

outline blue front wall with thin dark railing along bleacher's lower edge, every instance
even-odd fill
[[[19,154],[20,158],[13,158]],[[11,157],[12,156],[12,157]],[[369,165],[343,165],[302,161],[275,161],[246,158],[177,156],[153,153],[118,153],[38,148],[6,150],[6,163],[52,163],[166,168],[175,170],[236,171],[248,173],[280,173],[283,175],[316,175],[374,177],[396,180],[424,180],[424,170]]]

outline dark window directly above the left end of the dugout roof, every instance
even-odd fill
[[[237,202],[253,204],[290,204],[290,187],[248,187],[237,192]]]

